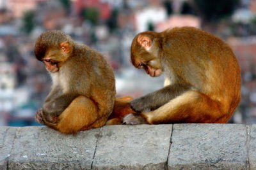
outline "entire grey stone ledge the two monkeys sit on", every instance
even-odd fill
[[[256,169],[256,125],[0,127],[0,169]]]

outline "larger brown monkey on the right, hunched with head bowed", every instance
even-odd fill
[[[150,76],[164,73],[163,89],[131,101],[140,114],[125,124],[225,123],[240,101],[240,69],[230,46],[193,27],[141,32],[132,64]]]

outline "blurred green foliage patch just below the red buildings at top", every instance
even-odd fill
[[[84,19],[90,20],[93,25],[97,25],[99,23],[100,11],[95,7],[85,8],[82,11],[82,16]]]

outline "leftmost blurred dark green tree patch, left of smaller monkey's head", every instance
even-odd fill
[[[26,11],[22,17],[22,27],[21,30],[27,34],[31,33],[35,28],[35,12]]]

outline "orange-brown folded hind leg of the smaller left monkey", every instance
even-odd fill
[[[99,113],[99,108],[91,99],[79,96],[61,113],[56,129],[69,134],[101,127],[106,123],[107,116]]]

